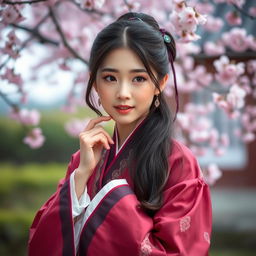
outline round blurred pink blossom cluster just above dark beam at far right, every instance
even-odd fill
[[[243,28],[233,28],[223,33],[222,39],[226,46],[237,52],[244,52],[250,47],[247,32]]]

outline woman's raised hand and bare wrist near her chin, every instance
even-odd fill
[[[79,134],[80,164],[75,173],[76,194],[78,198],[82,195],[85,184],[100,160],[103,147],[109,149],[109,144],[114,144],[114,141],[103,127],[97,125],[109,120],[111,120],[110,116],[92,119],[85,130]]]

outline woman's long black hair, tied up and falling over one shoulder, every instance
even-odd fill
[[[164,40],[163,35],[168,35],[168,42]],[[123,47],[137,54],[159,90],[160,105],[155,106],[155,96],[142,126],[142,137],[138,138],[134,148],[135,168],[131,168],[134,192],[141,206],[148,213],[154,213],[162,205],[162,192],[168,177],[173,120],[161,93],[160,81],[169,72],[169,61],[175,59],[176,48],[171,34],[161,30],[156,20],[144,13],[126,13],[104,28],[92,46],[89,60],[90,78],[86,91],[86,102],[98,115],[102,114],[91,95],[98,68],[112,50]]]

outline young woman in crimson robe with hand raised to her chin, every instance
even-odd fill
[[[127,13],[98,34],[86,102],[100,117],[37,213],[29,255],[208,255],[209,188],[191,151],[171,138],[162,93],[175,54],[172,36],[146,14]],[[113,138],[100,126],[111,119]]]

